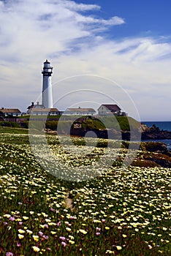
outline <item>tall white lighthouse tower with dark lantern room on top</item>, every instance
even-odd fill
[[[50,67],[50,62],[45,61],[42,69],[43,83],[42,83],[42,105],[45,108],[53,108],[53,93],[52,93],[52,75],[53,67]]]

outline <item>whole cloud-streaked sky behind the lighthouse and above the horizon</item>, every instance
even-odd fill
[[[59,110],[117,103],[171,121],[170,10],[170,0],[0,1],[0,108],[41,101],[48,59]]]

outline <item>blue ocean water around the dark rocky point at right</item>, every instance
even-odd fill
[[[171,132],[171,121],[142,121],[142,124],[146,124],[148,127],[152,127],[153,124],[159,129],[167,130]],[[142,141],[161,141],[167,145],[167,148],[171,150],[171,140],[142,140]]]

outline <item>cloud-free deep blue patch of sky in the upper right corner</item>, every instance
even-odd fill
[[[77,3],[99,4],[99,16],[117,15],[125,20],[121,27],[111,28],[110,37],[135,37],[138,35],[170,36],[170,0],[84,0]]]

